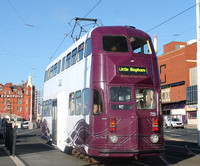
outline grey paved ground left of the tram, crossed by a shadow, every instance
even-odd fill
[[[25,133],[25,134],[24,134]],[[51,165],[85,165],[85,161],[61,153],[47,140],[40,138],[40,129],[24,130],[23,134],[17,135],[16,155],[10,154],[4,144],[0,144],[0,166],[51,166]]]

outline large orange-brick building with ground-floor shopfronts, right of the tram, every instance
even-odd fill
[[[196,52],[196,40],[171,42],[158,57],[163,114],[188,124],[196,123]]]

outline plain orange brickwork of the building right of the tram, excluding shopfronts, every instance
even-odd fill
[[[172,50],[177,43],[179,42],[169,43],[168,47],[165,45],[165,51]],[[189,69],[196,66],[196,63],[187,62],[187,59],[196,59],[196,43],[158,57],[161,86],[185,81],[185,85],[170,88],[171,102],[186,100],[186,87],[189,86]]]

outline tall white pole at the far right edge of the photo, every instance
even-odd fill
[[[198,146],[200,146],[200,0],[196,0],[196,21],[197,21],[197,91],[198,91],[198,107],[197,107],[197,132]]]

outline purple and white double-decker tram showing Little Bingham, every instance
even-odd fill
[[[149,35],[97,27],[45,72],[42,135],[89,156],[160,155],[160,80]]]

